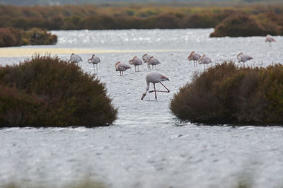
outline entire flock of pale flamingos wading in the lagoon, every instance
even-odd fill
[[[271,35],[267,35],[265,38],[265,42],[269,42],[271,45],[271,42],[276,42],[276,40],[271,36]],[[147,69],[156,69],[156,65],[160,64],[160,61],[158,61],[158,59],[156,59],[155,57],[149,55],[149,54],[144,54],[141,57],[142,61],[144,61],[144,64],[147,64]],[[129,64],[134,65],[134,71],[139,71],[139,65],[143,64],[141,59],[139,59],[138,57],[134,57],[133,59],[129,60]],[[243,63],[243,67],[245,67],[245,62],[249,61],[250,59],[253,59],[253,57],[249,56],[248,54],[243,54],[243,52],[239,53],[237,55],[237,59],[238,62],[242,62]],[[189,57],[187,57],[188,61],[193,61],[194,63],[194,67],[197,66],[198,64],[203,64],[204,65],[204,69],[205,69],[205,65],[206,64],[210,64],[212,63],[212,59],[210,59],[209,57],[207,57],[205,54],[203,54],[202,56],[200,54],[197,54],[195,51],[192,51],[189,55]],[[70,60],[71,63],[76,63],[77,65],[79,64],[80,61],[83,61],[81,59],[81,57],[79,57],[79,55],[77,54],[71,54]],[[97,57],[95,54],[92,55],[91,59],[88,59],[88,63],[96,64],[96,70],[98,70],[98,63],[100,63],[100,59],[99,57]],[[126,71],[127,69],[131,69],[131,66],[129,66],[128,64],[125,63],[121,63],[120,61],[117,61],[117,63],[115,63],[115,69],[116,71],[120,71],[120,76],[123,75],[123,72]],[[169,93],[170,90],[168,90],[168,88],[166,88],[166,86],[163,85],[163,83],[161,83],[162,81],[169,81],[169,78],[164,76],[163,74],[160,74],[158,72],[150,72],[148,74],[146,74],[146,90],[144,93],[142,93],[141,96],[141,100],[144,99],[144,97],[146,96],[146,93],[155,93],[155,98],[157,99],[157,95],[156,92],[164,92],[164,93]],[[154,90],[149,90],[149,83],[152,83],[154,85]],[[156,90],[155,84],[156,83],[161,83],[161,85],[166,88],[166,90]]]

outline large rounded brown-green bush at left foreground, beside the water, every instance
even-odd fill
[[[0,127],[97,127],[117,110],[96,76],[58,57],[0,67]]]

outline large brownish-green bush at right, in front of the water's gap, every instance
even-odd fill
[[[282,124],[283,66],[216,65],[180,88],[171,110],[180,119],[198,123]]]

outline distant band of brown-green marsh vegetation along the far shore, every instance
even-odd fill
[[[246,23],[246,25],[243,25]],[[0,27],[28,30],[216,28],[212,36],[282,35],[282,4],[0,6]]]

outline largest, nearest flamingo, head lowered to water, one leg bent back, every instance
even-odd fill
[[[146,91],[144,93],[142,93],[141,100],[144,99],[147,91],[149,91],[149,93],[154,92],[155,93],[155,99],[157,99],[156,92],[169,93],[170,90],[168,90],[168,88],[166,88],[166,86],[164,86],[163,83],[161,83],[161,81],[169,81],[169,78],[167,78],[166,76],[164,76],[164,75],[162,75],[158,72],[151,72],[149,74],[146,74],[146,84],[147,84],[147,86],[146,86]],[[149,83],[154,84],[154,90],[149,90]],[[166,90],[156,90],[156,88],[155,88],[156,83],[161,83],[161,85],[164,88],[166,88]]]

